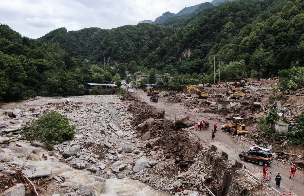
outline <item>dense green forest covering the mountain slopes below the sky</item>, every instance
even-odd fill
[[[199,9],[199,10],[198,10]],[[109,58],[109,65],[105,61]],[[119,82],[131,74],[172,76],[161,87],[213,82],[214,59],[221,79],[300,76],[304,64],[303,0],[239,0],[173,16],[161,24],[111,30],[60,28],[37,40],[0,24],[0,98],[86,93],[85,84]],[[107,64],[107,62],[106,62]],[[280,71],[282,70],[282,71]],[[300,74],[299,74],[300,73]],[[299,77],[284,88],[303,85]]]

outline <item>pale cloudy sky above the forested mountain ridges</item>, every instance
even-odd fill
[[[38,38],[51,30],[112,29],[155,20],[164,12],[212,0],[0,0],[0,23],[22,36]]]

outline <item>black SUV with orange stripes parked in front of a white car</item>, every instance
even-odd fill
[[[273,161],[272,153],[264,150],[243,151],[239,154],[242,161],[251,161],[263,166]]]

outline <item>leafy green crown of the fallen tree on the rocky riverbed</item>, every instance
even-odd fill
[[[52,150],[55,142],[64,142],[74,137],[75,125],[70,125],[67,117],[51,111],[39,117],[30,125],[30,132],[26,132],[31,140],[39,140]]]

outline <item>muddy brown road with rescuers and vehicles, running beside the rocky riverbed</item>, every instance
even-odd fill
[[[158,102],[150,102],[150,96],[147,96],[146,93],[138,90],[134,90],[134,95],[140,97],[140,100],[148,102],[151,106],[156,108],[163,108],[165,110],[165,117],[174,121],[176,115],[185,114],[184,103],[172,103],[167,100],[167,98],[158,98]],[[238,157],[239,153],[249,149],[250,144],[237,140],[237,136],[232,136],[230,133],[217,131],[215,133],[215,140],[211,140],[212,128],[215,122],[226,122],[223,116],[219,116],[218,114],[210,114],[210,113],[194,113],[187,112],[187,115],[191,120],[196,121],[199,120],[208,120],[209,130],[196,131],[192,130],[191,132],[196,135],[199,139],[206,143],[206,145],[210,146],[213,144],[217,147],[219,152],[225,151],[229,155],[229,159],[241,162]],[[222,123],[219,123],[219,129]],[[250,162],[245,162],[245,165],[248,167],[248,171],[252,173],[254,176],[261,178],[262,177],[262,167]],[[289,193],[291,189],[292,195],[303,195],[304,193],[304,175],[302,171],[298,171],[296,173],[295,179],[289,178],[289,170],[290,165],[286,165],[282,162],[274,160],[271,164],[268,165],[268,171],[272,171],[273,180],[271,182],[271,188],[278,191],[278,193],[282,194],[283,188],[285,188],[285,195]],[[280,173],[282,176],[282,182],[280,189],[275,187],[275,176],[277,173]],[[266,184],[264,184],[266,186]],[[267,183],[268,186],[268,183]]]

